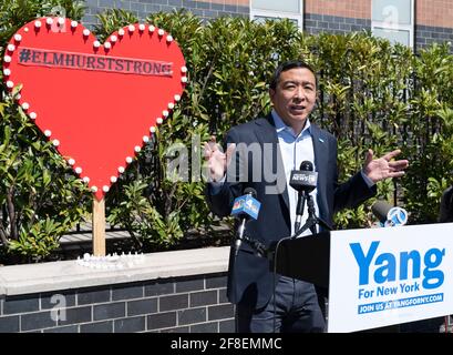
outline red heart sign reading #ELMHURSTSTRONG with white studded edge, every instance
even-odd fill
[[[97,200],[181,100],[178,44],[154,26],[130,24],[101,44],[76,21],[23,26],[3,58],[7,87]]]

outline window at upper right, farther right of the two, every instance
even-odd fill
[[[415,0],[372,0],[371,31],[391,43],[413,48]]]

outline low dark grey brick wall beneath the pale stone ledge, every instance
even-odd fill
[[[56,307],[61,306],[56,318]],[[0,333],[234,332],[226,275],[0,296]]]

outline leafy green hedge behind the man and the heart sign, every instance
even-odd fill
[[[8,2],[9,8],[0,6],[0,26],[9,26],[8,36],[0,38],[3,48],[9,36],[33,18],[31,11],[12,21],[11,3],[23,1]],[[72,1],[63,2],[59,3],[66,13],[80,19],[81,8],[75,11]],[[100,39],[137,21],[122,10],[107,11],[99,19],[94,32]],[[449,44],[435,44],[414,55],[368,33],[306,36],[290,21],[258,24],[218,18],[202,22],[184,11],[154,13],[146,20],[178,41],[189,83],[173,114],[107,194],[109,222],[127,229],[140,247],[165,248],[188,231],[209,232],[218,224],[204,200],[199,166],[175,181],[166,179],[175,178],[172,164],[197,165],[202,143],[213,133],[222,138],[231,125],[267,113],[268,79],[276,64],[288,59],[306,60],[319,73],[320,95],[312,120],[339,140],[340,176],[347,179],[358,171],[369,148],[378,155],[401,148],[402,156],[410,160],[408,174],[380,183],[379,197],[404,205],[412,224],[436,221],[441,193],[453,183]],[[0,106],[0,235],[10,252],[44,257],[64,229],[89,215],[90,194],[9,98]],[[18,154],[11,156],[12,151]],[[47,195],[45,176],[53,184],[52,199]],[[45,201],[45,209],[23,197],[30,191],[35,201]],[[372,202],[339,213],[337,227],[367,226],[374,220],[369,212]],[[21,220],[12,219],[12,206]],[[35,230],[47,236],[39,248],[33,244]]]

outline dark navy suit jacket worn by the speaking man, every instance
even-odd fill
[[[317,203],[319,216],[329,224],[332,224],[334,212],[364,202],[375,193],[375,186],[369,189],[360,172],[346,183],[338,184],[336,138],[315,124],[311,124],[311,134],[315,149],[315,165],[318,171]],[[261,202],[261,209],[258,220],[247,223],[247,235],[260,240],[266,245],[269,245],[272,241],[289,236],[291,231],[289,197],[286,189],[282,159],[278,146],[278,136],[271,115],[269,114],[265,119],[257,119],[233,128],[228,131],[226,142],[245,143],[245,145],[255,143],[255,146],[259,144],[265,151],[265,145],[267,145],[267,151],[269,151],[268,148],[271,144],[274,149],[272,154],[264,154],[266,156],[261,159],[261,164],[257,163],[257,156],[255,156],[257,154],[248,154],[248,165],[239,182],[231,181],[230,176],[235,174],[228,173],[227,181],[224,183],[220,192],[216,194],[213,194],[212,186],[208,184],[206,197],[210,210],[220,217],[229,215],[233,201],[244,193],[245,187],[253,187],[257,191],[257,200]],[[239,154],[239,151],[240,149],[237,149],[237,154]],[[244,166],[244,159],[236,159],[231,166]],[[253,175],[254,165],[255,175]],[[257,168],[259,165],[261,168]],[[274,181],[271,179],[262,179],[265,178],[262,176],[265,169],[269,166],[272,166],[274,172],[276,172]],[[256,176],[257,169],[261,170],[261,179]],[[268,176],[269,172],[267,172]],[[272,190],[277,191],[277,193],[269,193]],[[269,261],[265,257],[256,256],[251,247],[246,243],[241,244],[236,262],[233,262],[231,256],[233,253],[228,271],[227,294],[229,301],[233,303],[246,303],[248,306],[256,308],[265,306],[274,290],[274,278],[269,272]]]

